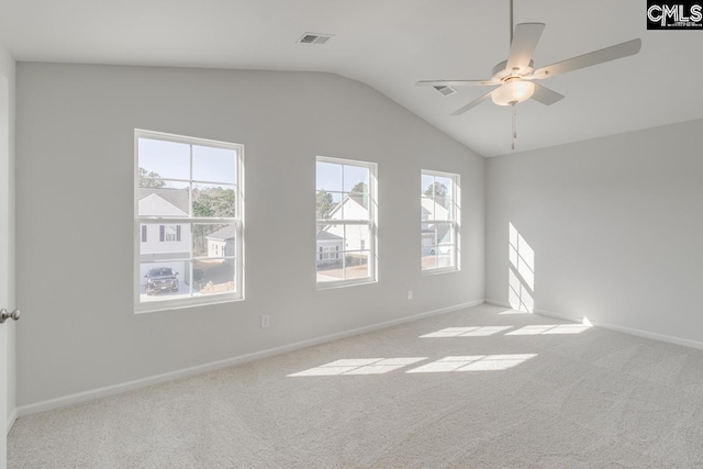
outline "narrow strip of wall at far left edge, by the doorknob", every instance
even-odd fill
[[[14,129],[15,129],[15,63],[12,56],[7,52],[4,45],[0,43],[0,75],[8,79],[8,88],[9,88],[9,115],[2,116],[1,119],[7,119],[8,129],[9,129],[9,147],[8,147],[8,181],[7,181],[7,193],[8,193],[8,210],[9,210],[9,225],[8,225],[8,252],[7,252],[7,265],[9,272],[9,284],[8,284],[8,304],[2,304],[0,308],[7,308],[9,311],[12,311],[18,306],[15,303],[15,275],[14,275],[14,167],[15,167],[15,145],[14,145]],[[5,183],[4,181],[2,182]],[[3,189],[4,190],[4,189]],[[3,263],[4,256],[3,257]],[[8,334],[8,416],[11,417],[12,413],[15,409],[15,381],[16,381],[16,367],[15,367],[15,323],[14,321],[5,322],[7,334]]]

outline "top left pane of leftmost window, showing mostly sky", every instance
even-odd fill
[[[190,145],[140,138],[140,177],[190,179]]]

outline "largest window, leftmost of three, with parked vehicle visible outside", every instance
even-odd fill
[[[135,311],[243,298],[244,147],[135,132]]]

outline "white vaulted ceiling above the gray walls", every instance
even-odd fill
[[[641,37],[633,57],[540,83],[517,107],[517,150],[703,118],[703,31],[647,31],[643,0],[514,0],[547,26],[536,67]],[[486,88],[444,98],[422,79],[482,79],[507,57],[509,0],[0,0],[0,42],[24,62],[330,71],[376,88],[483,156],[511,152],[510,108]],[[325,45],[295,41],[335,36]]]

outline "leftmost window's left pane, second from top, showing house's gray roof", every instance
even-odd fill
[[[140,179],[140,216],[188,216],[188,182]]]

